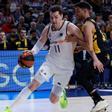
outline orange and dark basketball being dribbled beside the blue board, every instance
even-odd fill
[[[25,51],[18,58],[18,64],[22,68],[31,68],[34,65],[34,56],[32,52]]]

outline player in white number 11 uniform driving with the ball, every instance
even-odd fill
[[[66,37],[73,35],[74,38],[83,40],[82,34],[74,24],[63,20],[63,11],[60,6],[51,7],[50,20],[51,23],[44,28],[40,39],[31,50],[34,55],[37,54],[47,39],[49,39],[50,49],[46,61],[36,72],[33,81],[20,92],[10,108],[6,108],[5,112],[11,112],[18,104],[22,104],[36,88],[45,81],[49,81],[52,76],[53,88],[51,90],[50,101],[55,104],[58,102],[63,88],[66,87],[71,78],[74,69],[74,47],[72,42],[66,41]],[[97,65],[99,69],[102,69],[100,62]]]

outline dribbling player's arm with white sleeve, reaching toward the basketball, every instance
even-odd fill
[[[48,26],[44,28],[39,40],[34,45],[34,47],[31,49],[31,52],[33,53],[33,55],[37,54],[42,49],[42,47],[47,41],[47,38],[48,38]]]

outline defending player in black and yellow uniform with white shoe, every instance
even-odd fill
[[[92,10],[91,5],[87,2],[79,2],[75,4],[74,8],[77,19],[83,22],[82,32],[87,42],[86,44],[88,44],[89,46],[90,52],[94,51],[98,59],[105,65],[107,63],[107,53],[105,53],[105,48],[100,47],[100,45],[98,44],[98,38],[102,37],[98,35],[98,33],[100,32],[96,29],[94,23],[92,22],[93,20],[90,17],[90,13]],[[71,41],[74,40],[74,38],[69,39],[71,39]],[[80,68],[81,70],[76,75],[76,78],[77,82],[86,89],[86,91],[94,101],[94,107],[92,108],[91,112],[99,112],[101,110],[105,110],[108,106],[108,103],[99,95],[99,93],[91,83],[91,80],[94,77],[95,73],[99,73],[102,71],[97,71],[96,67],[93,66],[94,62],[90,60],[91,57],[82,61],[82,67]]]

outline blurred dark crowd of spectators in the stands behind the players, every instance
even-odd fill
[[[30,50],[49,23],[49,7],[53,4],[62,5],[64,19],[80,28],[74,12],[74,4],[79,1],[93,6],[91,15],[110,46],[112,71],[112,0],[0,0],[0,50]],[[49,49],[49,40],[43,49]]]

